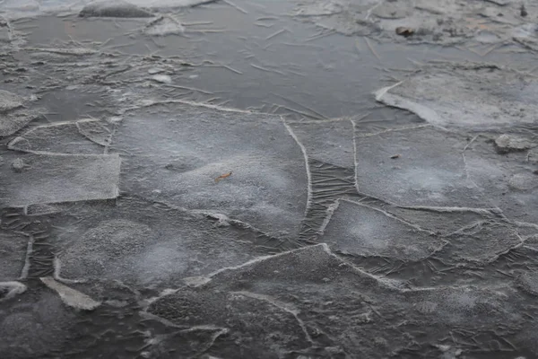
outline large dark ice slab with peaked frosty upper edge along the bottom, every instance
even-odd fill
[[[230,328],[207,351],[223,357],[383,358],[408,346],[438,357],[432,347],[452,345],[452,329],[470,330],[456,335],[467,342],[482,333],[474,343],[486,348],[494,336],[483,328],[532,323],[522,313],[537,311],[510,287],[398,289],[335,257],[325,244],[223,268],[191,283],[162,295],[148,312],[181,327]],[[531,339],[521,334],[512,343],[528,346]]]

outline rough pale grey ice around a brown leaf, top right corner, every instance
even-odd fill
[[[369,35],[377,39],[406,42],[454,44],[472,39],[499,43],[516,38],[536,43],[530,16],[521,16],[521,2],[478,0],[306,0],[297,2],[296,17],[316,22],[346,35]],[[525,2],[528,13],[534,2]],[[398,36],[396,28],[412,30],[410,37]]]

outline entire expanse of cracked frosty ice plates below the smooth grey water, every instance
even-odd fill
[[[534,76],[421,66],[375,94],[418,118],[381,126],[0,30],[1,357],[538,353]]]

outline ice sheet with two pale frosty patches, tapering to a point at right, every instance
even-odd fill
[[[59,275],[74,280],[162,287],[287,247],[238,223],[126,197],[117,206],[81,203],[45,217],[62,249]]]

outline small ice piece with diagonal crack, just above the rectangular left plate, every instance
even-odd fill
[[[10,150],[28,153],[100,154],[111,130],[97,119],[57,122],[33,127],[8,144]]]

